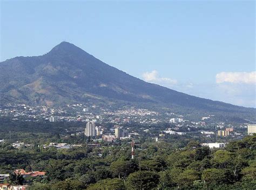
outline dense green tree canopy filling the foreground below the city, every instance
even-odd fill
[[[179,139],[177,139],[179,140]],[[15,149],[0,143],[0,173],[44,171],[46,177],[11,175],[29,189],[255,189],[256,135],[224,149],[190,141],[184,148],[145,141],[131,159],[131,144],[57,150],[41,145]],[[99,156],[100,155],[100,156]]]

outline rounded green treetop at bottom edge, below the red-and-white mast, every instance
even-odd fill
[[[127,189],[152,189],[159,184],[159,175],[149,171],[131,173],[127,178]]]

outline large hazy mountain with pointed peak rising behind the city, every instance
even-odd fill
[[[255,113],[254,108],[198,98],[146,83],[68,42],[60,43],[43,56],[1,62],[0,82],[1,102],[52,106],[106,98],[191,110]]]

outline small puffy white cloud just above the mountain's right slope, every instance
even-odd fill
[[[156,70],[151,72],[144,72],[142,77],[146,82],[156,83],[167,87],[176,85],[178,83],[176,79],[159,77]]]

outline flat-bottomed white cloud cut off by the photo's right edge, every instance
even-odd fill
[[[216,74],[216,83],[256,84],[256,71],[253,72],[220,72]]]

